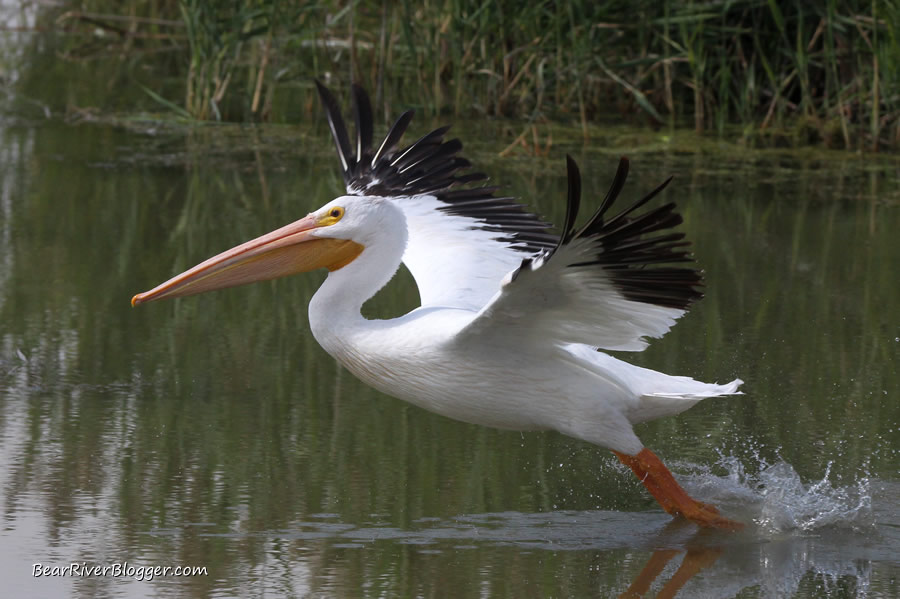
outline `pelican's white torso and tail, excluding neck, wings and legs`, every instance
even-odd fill
[[[383,393],[454,420],[556,430],[625,454],[643,447],[632,425],[674,416],[739,384],[669,376],[577,344],[472,347],[454,337],[473,316],[419,309],[334,329],[317,326],[310,313],[310,324],[325,351]]]

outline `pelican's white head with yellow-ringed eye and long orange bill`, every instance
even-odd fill
[[[400,223],[396,222],[398,219]],[[405,233],[403,213],[388,200],[342,196],[296,222],[213,256],[150,291],[138,293],[131,298],[131,305],[317,268],[335,271],[358,258],[379,235],[385,235],[385,229],[388,235],[398,230]]]

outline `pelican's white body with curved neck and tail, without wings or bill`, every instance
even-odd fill
[[[557,430],[634,454],[643,446],[633,424],[737,388],[640,368],[581,344],[523,343],[508,334],[473,339],[461,333],[479,312],[466,308],[417,308],[399,318],[367,320],[362,305],[400,266],[406,219],[379,198],[342,197],[322,211],[332,205],[366,211],[366,220],[378,221],[379,234],[353,262],[328,274],[310,301],[310,328],[325,351],[383,393],[455,420]],[[376,211],[390,217],[376,218]]]

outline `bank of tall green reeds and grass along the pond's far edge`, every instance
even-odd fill
[[[391,113],[585,130],[624,117],[752,146],[900,147],[900,0],[143,0],[124,13],[83,0],[41,22],[63,57],[131,57],[132,83],[186,118],[290,120],[320,77],[362,82]],[[149,60],[178,85],[144,76]]]

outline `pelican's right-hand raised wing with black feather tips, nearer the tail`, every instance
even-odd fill
[[[522,260],[458,341],[502,335],[640,351],[647,346],[643,337],[664,335],[702,297],[700,273],[672,266],[692,262],[684,234],[667,232],[681,223],[675,204],[635,214],[671,179],[607,218],[628,176],[622,158],[599,210],[576,230],[581,177],[575,161],[567,161],[566,222],[556,247]]]

